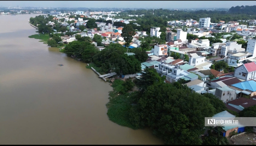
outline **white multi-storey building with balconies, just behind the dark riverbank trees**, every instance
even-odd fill
[[[198,76],[196,74],[181,70],[179,65],[172,66],[165,62],[161,62],[157,65],[155,64],[154,68],[158,73],[162,74],[162,76],[166,76],[166,80],[171,83],[176,82],[179,78],[183,78],[187,81],[198,79]]]

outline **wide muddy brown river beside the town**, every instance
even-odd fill
[[[112,87],[85,63],[28,38],[38,15],[0,15],[0,144],[163,144],[108,120]]]

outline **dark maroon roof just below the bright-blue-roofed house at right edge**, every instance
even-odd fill
[[[256,100],[253,100],[252,98],[256,98],[256,96],[252,96],[251,99],[250,98],[238,98],[236,100],[232,100],[230,102],[227,102],[228,104],[234,104],[236,106],[242,106],[244,108],[248,108],[250,106],[255,106],[256,105]]]

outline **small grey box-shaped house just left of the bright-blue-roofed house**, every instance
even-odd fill
[[[236,99],[236,90],[228,87],[218,87],[215,90],[215,96],[223,102],[228,102]]]

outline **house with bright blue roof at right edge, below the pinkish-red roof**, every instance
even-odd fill
[[[256,95],[256,82],[254,80],[239,82],[228,87],[236,90],[236,94],[239,94],[239,97],[242,97],[242,94],[250,97]]]

